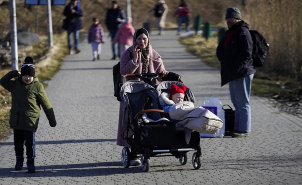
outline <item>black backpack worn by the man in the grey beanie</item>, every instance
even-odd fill
[[[253,40],[253,66],[262,67],[268,55],[269,44],[264,36],[257,30],[249,30]]]

